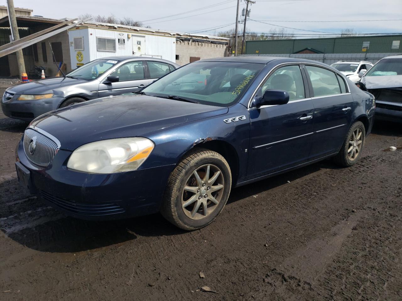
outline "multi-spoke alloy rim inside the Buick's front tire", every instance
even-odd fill
[[[181,203],[183,212],[192,220],[201,220],[217,209],[224,190],[224,177],[219,167],[198,167],[187,179]]]

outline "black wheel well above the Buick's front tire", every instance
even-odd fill
[[[197,150],[197,148],[207,148],[222,155],[228,161],[230,172],[232,173],[232,185],[237,183],[239,176],[239,158],[234,147],[222,140],[210,140],[196,144],[189,152]]]

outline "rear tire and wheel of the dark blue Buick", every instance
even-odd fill
[[[364,147],[365,137],[366,130],[364,124],[360,121],[352,124],[346,134],[345,141],[343,142],[338,155],[334,157],[335,163],[343,167],[354,165],[360,158]]]

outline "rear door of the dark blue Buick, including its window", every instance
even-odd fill
[[[314,105],[314,136],[310,159],[337,153],[354,111],[353,97],[343,77],[323,66],[304,65]]]

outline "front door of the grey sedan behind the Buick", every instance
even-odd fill
[[[119,81],[110,83],[107,79],[103,80],[99,84],[99,97],[137,92],[150,83],[150,79],[145,79],[143,61],[126,63],[109,75],[118,76]]]

